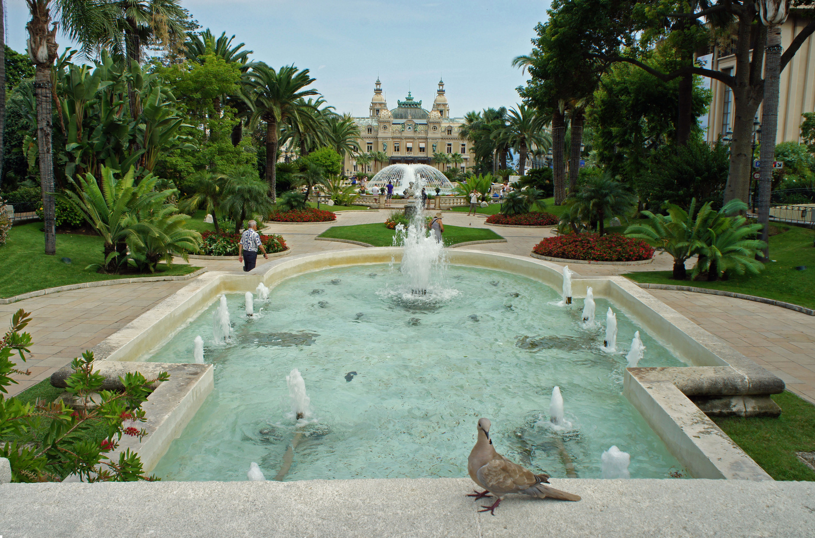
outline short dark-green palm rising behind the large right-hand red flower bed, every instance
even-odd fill
[[[589,228],[598,223],[602,237],[606,234],[606,217],[625,215],[635,207],[635,198],[623,189],[619,182],[609,177],[593,177],[568,199],[572,203],[571,213],[581,221],[588,221]]]

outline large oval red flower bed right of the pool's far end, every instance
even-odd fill
[[[566,260],[638,261],[650,260],[654,248],[642,239],[620,234],[566,234],[545,238],[532,252]]]

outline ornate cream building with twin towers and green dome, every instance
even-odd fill
[[[436,164],[434,153],[459,153],[464,162],[457,166],[469,166],[469,142],[459,138],[459,129],[464,118],[450,117],[450,105],[444,95],[444,82],[438,81],[436,98],[430,111],[421,107],[411,92],[404,101],[397,101],[398,107],[389,110],[382,84],[377,78],[373,90],[368,117],[356,117],[359,126],[359,149],[363,153],[382,151],[388,156],[384,163],[368,164],[365,172],[374,173],[388,164],[422,163],[431,164],[445,170],[454,164]],[[359,169],[358,169],[359,168]],[[362,172],[353,155],[346,155],[346,174]]]

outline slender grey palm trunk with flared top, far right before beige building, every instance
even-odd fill
[[[773,186],[773,161],[775,138],[778,128],[778,85],[781,74],[781,24],[790,13],[790,0],[759,0],[756,2],[761,22],[767,27],[767,48],[764,56],[764,106],[761,108],[761,125],[767,142],[761,144],[759,164],[759,223],[763,225],[761,240],[764,260],[769,261],[769,195]]]

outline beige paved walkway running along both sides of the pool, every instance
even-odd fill
[[[389,215],[387,209],[341,212],[333,222],[267,225],[263,231],[283,235],[293,254],[358,248],[349,243],[315,241],[315,237],[331,226],[384,222]],[[483,217],[468,217],[465,212],[444,212],[444,222],[449,225],[489,227],[484,221]],[[479,250],[519,256],[528,256],[535,243],[552,235],[546,228],[489,228],[506,238],[507,243],[482,244],[478,245]],[[176,262],[183,263],[183,260],[176,259]],[[190,263],[211,271],[241,271],[241,264],[236,260],[190,260]],[[266,260],[258,257],[258,265],[264,263]],[[649,265],[570,265],[570,269],[581,276],[613,275],[634,270],[663,271],[671,267],[672,258],[663,253]],[[92,348],[185,284],[187,282],[120,284],[64,291],[0,305],[0,315],[6,317],[2,325],[18,308],[33,313],[33,321],[27,329],[35,342],[31,349],[32,360],[28,362],[32,375],[15,376],[20,379],[20,384],[8,387],[10,394],[48,377],[74,356]],[[781,377],[792,391],[815,403],[815,317],[718,295],[663,290],[650,290],[650,293],[699,326],[727,340],[739,352]]]

